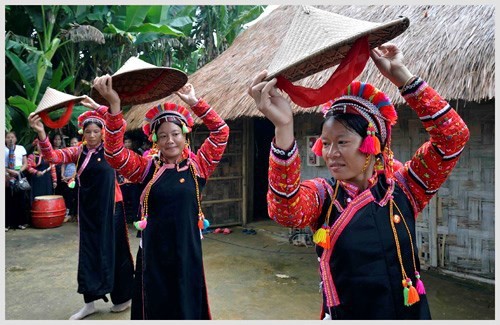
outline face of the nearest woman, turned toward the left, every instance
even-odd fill
[[[323,159],[335,179],[358,187],[363,185],[366,155],[359,151],[362,140],[359,134],[333,118],[323,124]]]

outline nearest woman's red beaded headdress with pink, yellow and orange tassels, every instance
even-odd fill
[[[353,81],[341,96],[324,104],[322,107],[322,111],[325,117],[327,117],[327,114],[357,114],[362,116],[368,122],[366,136],[364,137],[363,142],[359,147],[359,151],[367,155],[382,155],[383,165],[382,170],[380,170],[379,172],[383,172],[386,176],[387,181],[389,182],[394,172],[394,158],[392,150],[390,148],[391,130],[392,126],[396,124],[397,113],[387,95],[368,83]],[[314,144],[313,152],[318,156],[322,156],[321,141],[317,141]],[[339,182],[337,182],[337,187],[335,188],[332,202],[336,198],[338,184]],[[396,211],[394,210],[394,208],[396,209]],[[328,211],[328,215],[326,217],[327,225],[329,215],[330,210]],[[401,267],[403,301],[405,306],[411,306],[412,304],[420,300],[419,295],[425,294],[425,288],[422,280],[420,280],[420,274],[417,271],[411,233],[408,229],[408,226],[406,225],[406,221],[402,215],[401,210],[392,197],[389,200],[389,220],[391,228],[393,230],[394,242],[396,245],[398,260]],[[416,278],[415,286],[413,286],[412,281],[407,275],[406,270],[403,266],[403,254],[401,253],[399,237],[397,236],[396,231],[396,225],[401,221],[404,224],[410,240],[413,269]],[[328,229],[328,226],[326,228]],[[315,240],[318,245],[328,249],[328,245],[324,244],[325,242],[329,242],[329,238],[327,237],[328,232],[325,231],[325,227],[321,227],[316,231],[315,235],[313,236],[313,240]]]

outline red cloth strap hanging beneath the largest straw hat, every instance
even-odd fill
[[[330,79],[318,89],[292,84],[283,76],[276,77],[276,87],[286,92],[291,100],[301,107],[321,105],[342,94],[343,90],[363,72],[370,57],[368,36],[358,39]]]

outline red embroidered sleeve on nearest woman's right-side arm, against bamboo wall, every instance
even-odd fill
[[[396,175],[404,180],[417,212],[429,203],[458,162],[469,130],[458,113],[426,82],[418,78],[403,90],[404,98],[422,121],[430,139]]]

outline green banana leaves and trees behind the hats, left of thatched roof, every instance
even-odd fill
[[[27,116],[46,87],[88,94],[96,76],[113,74],[131,56],[191,74],[227,49],[243,25],[263,10],[237,5],[7,5],[6,127],[25,134],[18,136],[20,144],[21,139],[31,141]],[[84,110],[75,107],[72,128]]]

